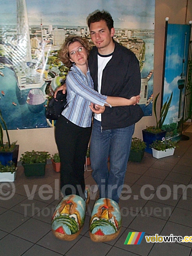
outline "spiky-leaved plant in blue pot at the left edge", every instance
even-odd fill
[[[10,138],[8,134],[8,129],[6,126],[6,122],[2,117],[2,113],[0,110],[0,162],[2,165],[6,166],[9,162],[14,162],[15,166],[17,166],[18,160],[18,152],[19,152],[19,145],[16,145],[17,142],[10,143]],[[6,135],[8,142],[4,143],[3,140],[3,126],[6,130]]]

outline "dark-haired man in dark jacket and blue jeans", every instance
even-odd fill
[[[96,12],[89,17],[88,26],[96,46],[88,60],[94,89],[104,95],[124,98],[140,94],[139,62],[133,52],[113,40],[115,29],[111,15],[108,12]],[[138,105],[106,107],[104,113],[95,114],[90,162],[100,198],[119,202],[134,126],[142,116]]]

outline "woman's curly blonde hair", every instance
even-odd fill
[[[70,46],[70,44],[72,44],[74,42],[80,42],[80,44],[82,44],[82,46],[87,51],[88,56],[89,56],[89,52],[92,48],[91,45],[89,44],[88,40],[86,40],[85,38],[81,38],[79,36],[69,36],[68,38],[66,38],[64,44],[60,48],[59,58],[67,68],[70,68],[73,64],[70,61],[69,46]]]

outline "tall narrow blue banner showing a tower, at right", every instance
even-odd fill
[[[190,42],[190,25],[168,24],[165,56],[163,104],[172,96],[163,129],[172,140],[180,140],[186,89],[186,75]]]

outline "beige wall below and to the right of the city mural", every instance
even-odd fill
[[[161,92],[162,69],[164,54],[165,18],[169,17],[169,23],[188,24],[192,20],[192,1],[187,0],[156,0],[155,7],[155,42],[154,42],[154,96]],[[160,98],[160,97],[159,97]],[[160,110],[160,102],[159,109]],[[137,124],[134,137],[142,138],[142,129],[154,125],[154,116],[145,116]],[[50,154],[57,152],[54,140],[54,128],[38,128],[26,130],[10,130],[11,142],[17,140],[20,145],[19,158],[25,151],[40,150]],[[6,136],[6,134],[5,134]]]

